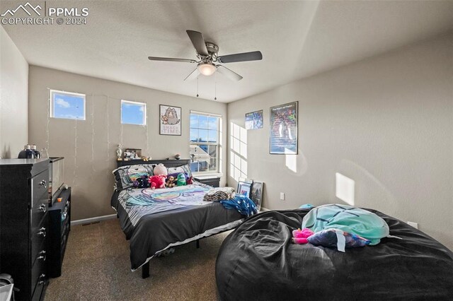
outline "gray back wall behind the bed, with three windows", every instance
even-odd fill
[[[125,83],[106,81],[38,66],[30,66],[29,135],[50,156],[64,156],[64,182],[73,187],[73,220],[115,213],[110,208],[115,149],[142,148],[154,159],[180,153],[189,158],[190,110],[222,114],[226,129],[226,104],[190,98]],[[86,120],[48,118],[49,90],[86,94]],[[120,100],[147,103],[147,126],[121,125]],[[159,135],[159,104],[182,108],[182,135]],[[226,135],[222,144],[226,145]],[[223,158],[226,149],[223,148]],[[226,162],[222,163],[222,168]],[[226,175],[222,177],[225,183]]]

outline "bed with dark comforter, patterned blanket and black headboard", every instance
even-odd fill
[[[189,160],[118,161],[125,165],[187,165]],[[228,210],[219,202],[202,201],[211,187],[194,182],[185,187],[167,189],[127,188],[114,191],[111,206],[117,211],[120,226],[130,240],[132,271],[142,268],[149,277],[149,260],[166,249],[196,242],[203,237],[231,230],[244,216]]]

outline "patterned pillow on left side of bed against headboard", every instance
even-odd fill
[[[134,187],[134,181],[140,177],[151,177],[154,175],[154,164],[143,165],[125,165],[113,170],[115,175],[116,190],[121,191],[130,187]]]

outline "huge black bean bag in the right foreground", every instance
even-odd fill
[[[343,253],[291,242],[308,210],[248,218],[217,256],[221,300],[453,300],[453,253],[401,220],[367,210],[401,240]]]

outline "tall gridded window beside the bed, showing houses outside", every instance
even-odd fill
[[[190,170],[219,172],[222,117],[190,111]]]

